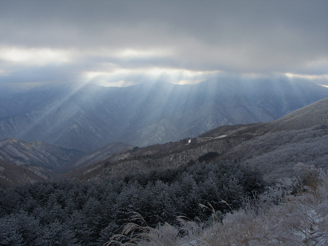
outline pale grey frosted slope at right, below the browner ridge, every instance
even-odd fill
[[[327,168],[328,127],[265,134],[232,148],[221,159],[256,167],[269,182],[295,175],[293,167],[298,162]]]

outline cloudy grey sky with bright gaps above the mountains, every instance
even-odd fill
[[[0,0],[0,89],[286,76],[328,85],[328,1]]]

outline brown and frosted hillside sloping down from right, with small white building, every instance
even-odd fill
[[[328,98],[280,119],[221,126],[162,145],[114,153],[66,174],[81,180],[106,180],[122,173],[149,173],[195,161],[229,160],[260,169],[267,181],[292,176],[298,162],[325,167],[328,161]]]

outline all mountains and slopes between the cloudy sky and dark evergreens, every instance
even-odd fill
[[[12,130],[19,140],[0,140],[0,185],[8,189],[63,176],[101,181],[218,160],[255,167],[268,182],[292,176],[298,162],[325,167],[328,98],[297,108],[323,97],[327,89],[284,83],[280,88],[272,81],[244,85],[208,80],[195,86],[86,85],[75,90],[70,85],[7,96],[0,100],[0,133],[7,136]],[[236,124],[239,121],[243,124]],[[48,141],[40,141],[42,137]],[[111,139],[121,141],[93,149]],[[163,139],[167,141],[159,144]],[[142,146],[146,140],[156,144]],[[129,141],[140,145],[126,144]]]

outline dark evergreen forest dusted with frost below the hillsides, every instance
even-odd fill
[[[35,182],[0,193],[0,245],[103,245],[140,214],[149,227],[184,216],[208,221],[261,193],[257,170],[227,162],[196,162],[106,182]]]

